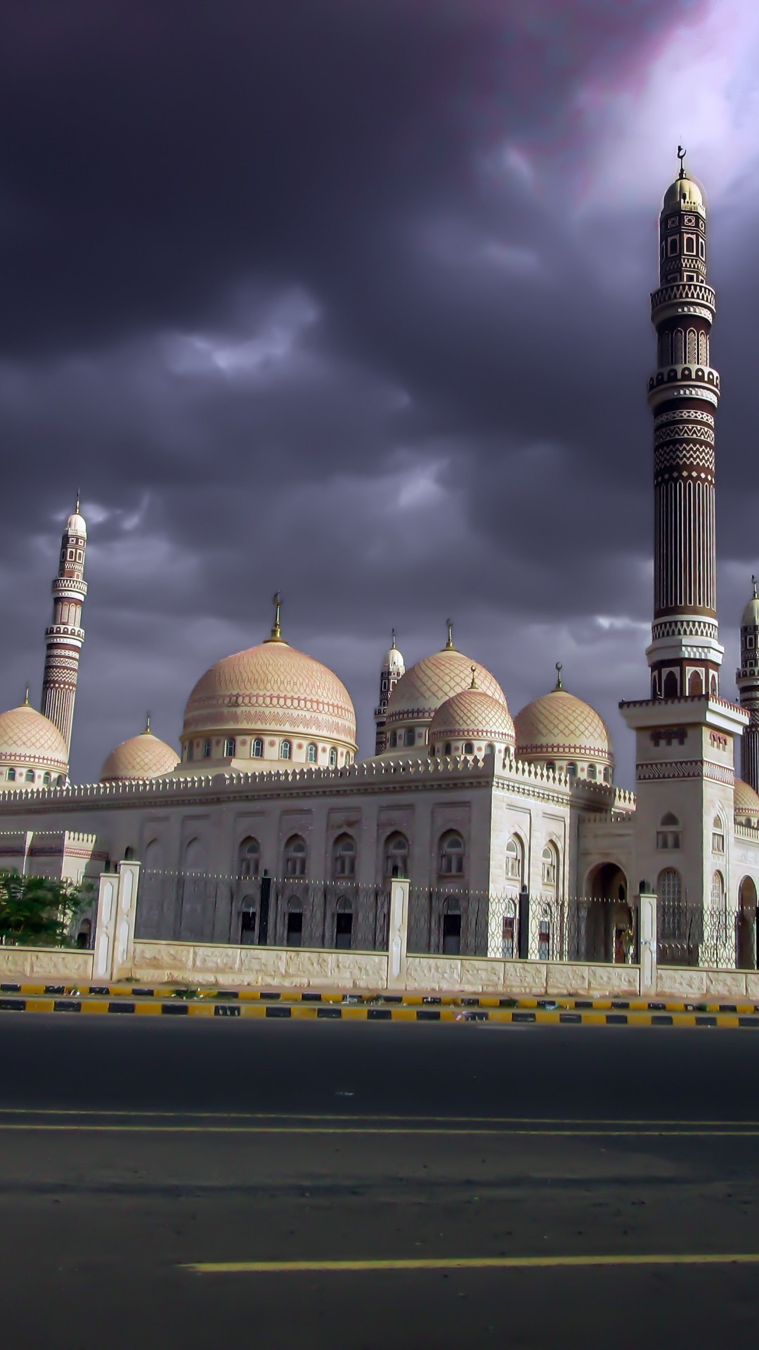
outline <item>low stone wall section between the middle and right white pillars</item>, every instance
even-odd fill
[[[640,994],[639,965],[501,961],[496,957],[408,956],[407,990],[454,994]]]

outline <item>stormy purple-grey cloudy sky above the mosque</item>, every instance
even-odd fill
[[[759,566],[752,0],[24,0],[0,50],[0,703],[89,521],[73,774],[176,742],[284,630],[352,694],[390,626],[512,711],[644,697],[648,292],[678,140],[710,204],[723,694]]]

